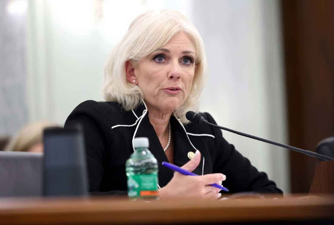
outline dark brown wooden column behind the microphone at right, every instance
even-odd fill
[[[289,143],[334,135],[334,1],[282,0]],[[291,191],[309,192],[317,159],[290,153]]]

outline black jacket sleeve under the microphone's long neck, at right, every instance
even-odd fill
[[[208,122],[217,124],[209,113],[205,113]],[[259,172],[251,162],[243,157],[232,144],[229,144],[222,136],[218,128],[211,128],[215,136],[216,157],[213,171],[226,175],[226,186],[231,193],[258,192],[279,193],[283,192],[276,187],[275,182],[268,179],[264,172]]]

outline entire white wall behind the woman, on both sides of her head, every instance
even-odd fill
[[[223,126],[286,143],[277,0],[30,0],[30,120],[47,118],[63,124],[80,102],[103,101],[100,89],[108,53],[135,16],[163,8],[186,14],[203,37],[210,76],[202,111]],[[289,191],[286,150],[228,132],[223,135]]]

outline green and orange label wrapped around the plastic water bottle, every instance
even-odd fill
[[[128,177],[129,197],[158,196],[158,176],[156,174],[140,174]]]

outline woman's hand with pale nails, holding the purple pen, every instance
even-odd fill
[[[201,153],[196,150],[195,156],[181,168],[192,172],[201,161]],[[220,189],[210,186],[216,183],[221,185],[226,180],[223,174],[206,174],[203,176],[187,176],[178,172],[174,173],[172,180],[163,188],[159,189],[159,198],[181,197],[218,199],[221,196]]]

